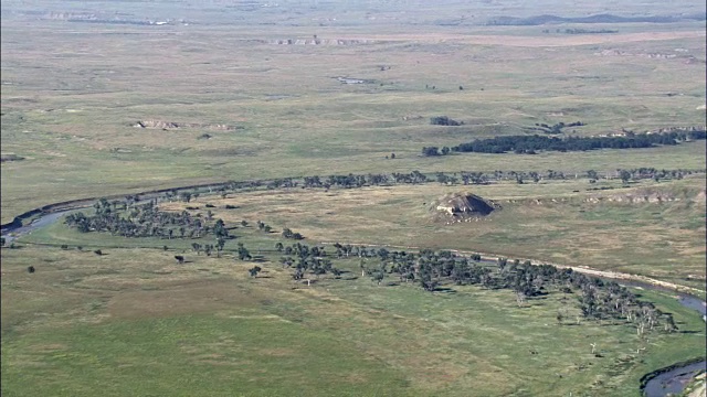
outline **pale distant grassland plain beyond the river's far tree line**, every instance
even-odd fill
[[[585,122],[570,131],[576,135],[701,126],[705,111],[697,107],[706,95],[705,37],[698,23],[581,36],[584,41],[531,34],[527,26],[509,26],[499,35],[498,26],[464,33],[433,28],[418,34],[409,26],[363,33],[356,26],[263,32],[198,24],[158,31],[25,23],[9,20],[1,28],[2,151],[24,158],[0,170],[3,223],[48,204],[45,196],[75,198],[323,170],[705,164],[704,146],[579,158],[419,157],[423,146],[520,133],[536,122]],[[271,43],[317,33],[368,42]],[[124,45],[126,37],[131,45]],[[374,83],[346,85],[337,76]],[[466,125],[430,126],[429,118],[437,115]],[[236,129],[133,127],[139,120]],[[203,133],[211,138],[199,139]],[[397,161],[386,162],[391,152]]]

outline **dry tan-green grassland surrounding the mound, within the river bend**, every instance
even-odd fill
[[[440,216],[435,201],[447,192],[464,191],[492,200],[502,208],[471,222]],[[160,208],[199,208],[191,211],[194,215],[210,211],[229,225],[262,221],[275,228],[273,233],[289,227],[314,244],[493,253],[643,275],[705,291],[704,191],[704,174],[699,174],[661,183],[643,180],[629,187],[619,181],[590,184],[580,179],[473,186],[430,183],[330,191],[266,190],[224,198],[203,195],[190,203],[162,203]],[[632,196],[661,197],[662,202],[627,202]],[[207,208],[207,204],[215,207]],[[250,247],[273,249],[274,243],[265,235],[246,233],[239,238]],[[167,245],[187,250],[192,243],[180,238],[106,239],[102,234],[78,233],[61,223],[36,230],[22,242],[86,248]],[[230,246],[226,250],[235,249]]]

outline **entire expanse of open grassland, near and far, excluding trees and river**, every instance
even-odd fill
[[[536,122],[587,124],[569,136],[704,126],[703,22],[594,25],[619,30],[610,35],[482,23],[550,9],[632,15],[646,4],[655,14],[687,14],[704,12],[703,2],[279,3],[3,1],[0,121],[2,159],[11,161],[0,165],[0,221],[59,201],[228,180],[707,167],[704,142],[420,155],[425,146],[525,133]],[[92,13],[170,23],[70,21]],[[314,35],[346,45],[275,44]],[[430,126],[440,115],[464,126]],[[654,189],[680,200],[587,201],[595,186],[614,187],[604,195]],[[490,251],[704,289],[705,211],[696,200],[704,189],[699,178],[631,189],[584,180],[473,186],[503,210],[449,225],[430,205],[463,187],[436,183],[201,196],[190,205],[203,212],[212,203],[228,223],[291,227],[312,244]],[[231,240],[215,258],[192,254],[188,240],[54,224],[22,237],[19,249],[3,248],[3,396],[627,396],[642,375],[706,347],[699,318],[657,292],[641,293],[683,332],[641,342],[626,324],[558,324],[558,310],[576,309],[557,293],[518,308],[509,291],[378,287],[356,278],[354,260],[337,264],[348,270],[342,279],[305,287],[272,254],[277,234],[233,233],[262,257],[257,278],[247,277],[253,264],[232,259]]]

